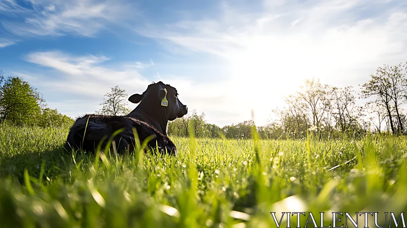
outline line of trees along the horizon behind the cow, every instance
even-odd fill
[[[299,90],[284,97],[285,105],[272,110],[273,118],[265,126],[247,120],[219,127],[208,123],[205,113],[190,110],[183,118],[169,122],[168,134],[175,136],[251,138],[256,129],[261,138],[304,138],[307,132],[320,137],[344,134],[363,136],[405,134],[407,129],[407,62],[378,67],[369,80],[355,88],[338,88],[319,79],[306,79]],[[130,112],[128,94],[115,86],[105,94],[96,113],[120,116]],[[0,72],[0,120],[38,126],[71,125],[73,120],[56,109],[46,107],[40,93],[19,77],[5,79]],[[193,132],[191,132],[193,131]]]

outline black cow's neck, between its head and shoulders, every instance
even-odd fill
[[[155,129],[157,129],[158,131],[160,131],[162,134],[167,135],[167,123],[168,123],[167,113],[163,112],[162,110],[161,111],[154,110],[151,108],[150,105],[146,106],[147,107],[144,107],[144,105],[140,103],[127,116],[146,122]]]

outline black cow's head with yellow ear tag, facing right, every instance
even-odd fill
[[[146,102],[150,108],[167,114],[168,120],[181,118],[188,112],[186,105],[178,99],[177,89],[162,81],[150,84],[142,94],[133,94],[129,97],[132,103]]]

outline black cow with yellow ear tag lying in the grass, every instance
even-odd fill
[[[155,138],[149,143],[150,148],[156,148],[161,153],[176,154],[177,147],[167,136],[168,121],[181,118],[188,112],[187,106],[178,99],[177,90],[162,81],[152,83],[142,94],[130,96],[129,101],[139,103],[126,116],[85,115],[78,118],[71,127],[66,149],[95,151],[102,139],[102,149],[113,132],[122,129],[113,140],[117,151],[133,151],[136,129],[140,144],[150,135]]]

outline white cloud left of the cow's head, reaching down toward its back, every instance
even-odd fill
[[[44,70],[40,74],[20,71],[14,74],[30,81],[44,94],[45,100],[49,100],[47,97],[52,98],[49,103],[51,108],[59,108],[71,117],[94,113],[100,108],[99,103],[103,95],[111,87],[119,86],[131,95],[142,93],[151,83],[142,77],[134,66],[102,66],[109,60],[105,56],[73,56],[60,51],[47,51],[27,54],[24,60],[49,68],[50,71]],[[55,101],[54,96],[64,99]],[[72,100],[72,96],[81,99]]]

